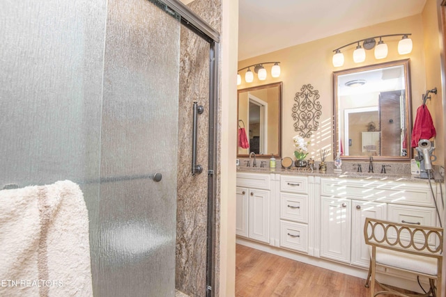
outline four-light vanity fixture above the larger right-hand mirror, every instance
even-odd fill
[[[344,54],[341,53],[341,49],[344,47],[348,47],[349,45],[355,45],[357,44],[357,47],[355,51],[353,51],[353,61],[355,63],[362,63],[365,61],[365,50],[373,49],[375,48],[374,54],[376,59],[382,59],[387,57],[388,54],[388,47],[384,43],[383,38],[384,37],[390,37],[390,36],[403,36],[401,40],[398,42],[398,53],[400,55],[410,54],[412,51],[412,40],[408,37],[409,35],[412,35],[411,33],[399,33],[399,34],[389,34],[389,35],[380,35],[380,36],[374,36],[362,40],[357,40],[355,42],[351,42],[348,45],[344,45],[342,47],[338,47],[337,49],[334,49],[334,55],[332,59],[332,63],[334,67],[341,67],[344,65]],[[379,38],[378,45],[376,45],[375,38]],[[360,42],[362,42],[362,46],[360,45]],[[375,47],[376,45],[376,47]]]

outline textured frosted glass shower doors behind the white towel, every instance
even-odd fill
[[[162,7],[0,10],[0,188],[81,186],[95,296],[175,294],[180,18]]]

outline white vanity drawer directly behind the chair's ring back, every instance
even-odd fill
[[[422,225],[422,226],[436,226],[436,209],[430,207],[411,207],[409,205],[397,205],[387,204],[387,219],[397,223],[408,223],[410,225]],[[390,230],[390,238],[396,238],[395,232]],[[393,235],[395,234],[395,235]],[[404,235],[404,231],[401,234],[401,238],[409,240],[409,235]],[[436,242],[433,236],[429,237],[429,245],[433,245]],[[417,240],[418,239],[418,240]],[[422,236],[415,234],[415,241],[421,242]]]

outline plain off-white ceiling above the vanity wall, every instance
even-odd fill
[[[424,3],[426,0],[239,0],[238,61],[417,15]]]

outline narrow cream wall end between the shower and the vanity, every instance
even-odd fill
[[[232,297],[236,291],[236,147],[238,0],[222,0],[220,42],[220,278],[215,296]],[[219,208],[219,207],[217,207]]]

